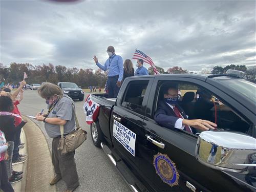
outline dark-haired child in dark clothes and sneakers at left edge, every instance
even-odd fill
[[[2,94],[2,93],[1,93]],[[6,140],[9,144],[8,147],[8,159],[5,160],[7,175],[10,183],[16,183],[22,180],[21,175],[23,172],[12,171],[12,155],[14,148],[15,134],[22,129],[22,127],[15,127],[14,117],[22,118],[19,115],[11,113],[14,109],[12,99],[9,96],[0,96],[0,130],[4,132]]]

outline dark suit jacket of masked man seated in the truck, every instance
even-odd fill
[[[187,116],[185,112],[181,109],[181,107],[179,105],[175,106],[179,109],[184,119],[187,119]],[[166,102],[161,100],[158,103],[158,109],[155,113],[154,119],[161,126],[164,126],[168,129],[174,129],[175,122],[177,121],[177,119],[179,119],[179,117],[176,116],[172,108],[170,108],[170,106]]]

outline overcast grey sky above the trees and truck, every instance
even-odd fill
[[[137,48],[165,70],[256,63],[255,1],[1,0],[1,32],[6,66],[97,69],[92,57],[104,63],[109,45],[123,59]]]

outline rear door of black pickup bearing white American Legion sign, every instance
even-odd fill
[[[139,170],[138,144],[141,139],[144,113],[148,95],[154,78],[131,80],[123,84],[111,118],[111,137],[115,151],[126,163]]]

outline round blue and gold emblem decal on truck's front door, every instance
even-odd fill
[[[168,185],[175,186],[178,185],[179,173],[175,163],[169,159],[167,155],[158,153],[154,156],[153,162],[157,175],[162,179],[162,181]]]

